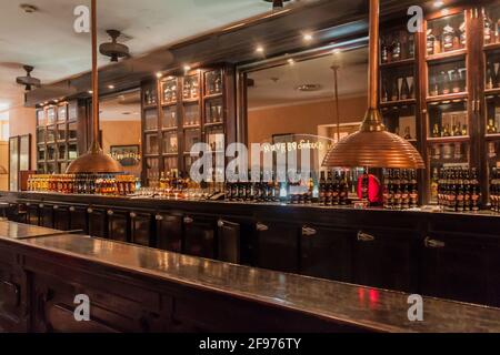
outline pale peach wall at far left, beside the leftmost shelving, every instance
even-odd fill
[[[9,136],[31,134],[31,170],[37,168],[37,121],[32,108],[16,108],[9,111]]]

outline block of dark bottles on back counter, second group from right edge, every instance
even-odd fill
[[[448,212],[480,210],[481,187],[476,169],[433,169],[431,197]]]

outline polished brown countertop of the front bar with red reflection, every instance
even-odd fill
[[[423,298],[423,321],[408,320],[408,294],[233,265],[82,235],[8,240],[23,246],[201,290],[271,304],[377,332],[500,332],[500,310]],[[304,329],[307,331],[307,329]]]

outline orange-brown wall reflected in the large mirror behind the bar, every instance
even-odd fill
[[[341,123],[360,122],[367,110],[367,98],[340,100]],[[331,100],[252,110],[248,114],[249,143],[269,141],[273,134],[318,134],[318,125],[333,124]]]

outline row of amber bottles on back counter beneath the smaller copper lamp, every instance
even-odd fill
[[[28,191],[68,194],[129,195],[140,187],[133,175],[39,174],[28,178]]]

